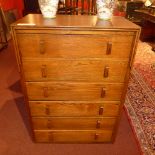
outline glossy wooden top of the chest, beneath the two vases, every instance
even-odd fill
[[[41,14],[29,14],[12,24],[17,29],[25,28],[78,28],[78,29],[131,29],[139,26],[124,17],[113,16],[111,20],[99,20],[97,16],[57,15],[54,19],[45,19]]]

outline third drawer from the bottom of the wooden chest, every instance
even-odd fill
[[[117,116],[120,102],[30,101],[32,116]]]

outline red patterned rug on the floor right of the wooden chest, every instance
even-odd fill
[[[155,53],[145,42],[138,43],[125,110],[142,154],[155,155]]]

